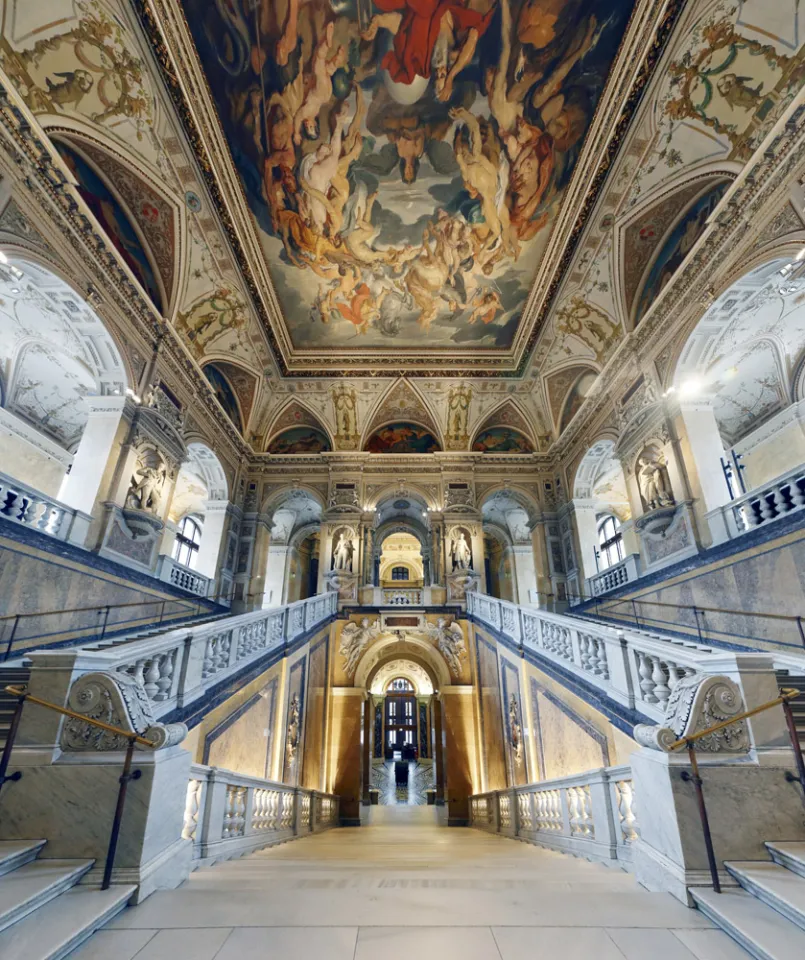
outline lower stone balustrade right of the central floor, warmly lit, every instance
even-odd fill
[[[640,825],[628,766],[476,794],[470,823],[596,860],[629,864]]]

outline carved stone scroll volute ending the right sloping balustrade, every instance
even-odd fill
[[[669,751],[674,741],[723,723],[744,710],[741,691],[729,677],[694,674],[683,677],[671,691],[664,723],[658,726],[639,723],[634,728],[634,737],[643,747]],[[748,753],[749,748],[744,720],[696,741],[696,749],[704,753]]]

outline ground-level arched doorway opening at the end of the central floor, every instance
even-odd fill
[[[381,806],[423,806],[435,799],[434,687],[419,663],[391,660],[369,687],[372,703],[370,795]],[[366,735],[366,734],[365,734]]]

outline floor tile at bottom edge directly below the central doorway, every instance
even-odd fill
[[[487,927],[363,927],[355,960],[500,960]]]

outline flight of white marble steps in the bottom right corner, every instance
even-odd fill
[[[693,889],[698,908],[757,960],[805,957],[805,843],[767,843],[771,860],[726,862],[738,888]]]

